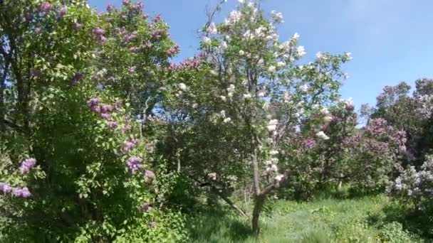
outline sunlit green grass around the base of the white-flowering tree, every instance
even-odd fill
[[[193,242],[422,242],[398,222],[389,222],[384,195],[311,202],[278,200],[261,217],[254,239],[250,222],[221,212],[202,213],[190,221]]]

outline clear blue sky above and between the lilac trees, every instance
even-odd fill
[[[121,0],[89,0],[90,6],[105,11],[108,4]],[[216,0],[147,0],[145,12],[161,13],[171,26],[170,34],[182,52],[179,58],[194,55],[197,30],[206,22],[205,9]],[[228,0],[224,13],[236,0]],[[400,81],[413,85],[419,77],[433,77],[433,1],[431,0],[263,0],[265,11],[281,11],[284,23],[280,39],[301,35],[300,45],[313,59],[318,51],[353,53],[344,70],[341,94],[360,104],[375,104],[385,85]],[[224,16],[221,16],[224,17]]]

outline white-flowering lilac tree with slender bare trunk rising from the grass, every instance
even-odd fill
[[[278,41],[282,14],[265,16],[257,4],[239,2],[223,23],[211,18],[204,27],[202,53],[187,65],[199,68],[194,72],[202,76],[180,72],[177,80],[182,83],[170,87],[173,102],[167,110],[193,124],[182,130],[184,137],[204,138],[197,148],[182,147],[184,155],[192,154],[193,161],[202,163],[202,173],[211,173],[212,180],[233,173],[251,176],[252,225],[257,233],[267,195],[289,176],[286,164],[278,168],[282,146],[301,132],[328,139],[320,131],[328,117],[320,111],[338,98],[338,80],[345,76],[340,64],[351,56],[318,53],[313,62],[298,64],[306,54],[298,45],[299,35]],[[188,166],[189,161],[183,163]]]

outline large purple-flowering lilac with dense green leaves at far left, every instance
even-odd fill
[[[80,0],[0,6],[1,235],[183,238],[182,216],[158,194],[158,134],[135,118],[151,109],[152,80],[177,52],[168,26],[130,1],[103,14]]]

